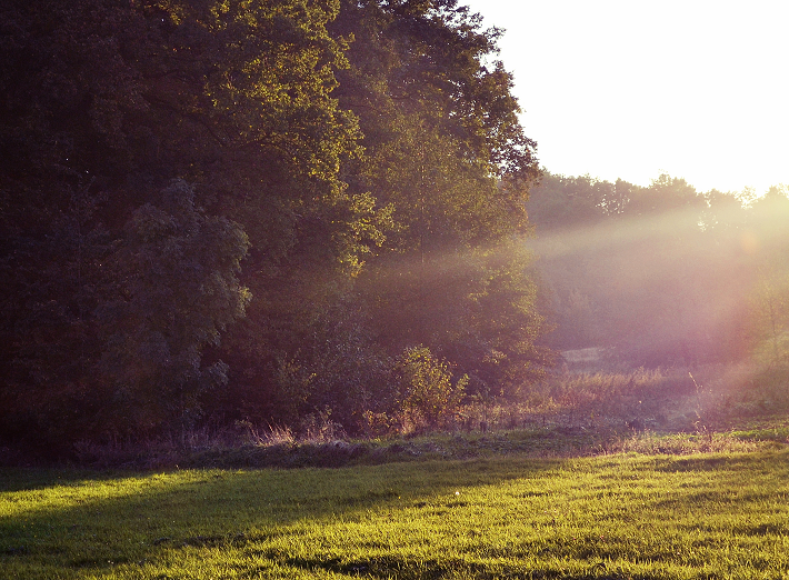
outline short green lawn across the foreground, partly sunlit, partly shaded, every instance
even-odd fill
[[[789,578],[789,451],[0,470],[0,578]]]

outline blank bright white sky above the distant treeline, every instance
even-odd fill
[[[506,29],[553,173],[698,191],[789,183],[788,0],[460,0]]]

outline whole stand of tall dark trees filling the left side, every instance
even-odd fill
[[[0,438],[439,424],[539,377],[539,174],[456,0],[0,8]]]

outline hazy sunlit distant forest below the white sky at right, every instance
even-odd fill
[[[786,364],[786,186],[702,193],[668,174],[638,187],[546,173],[527,208],[547,344],[597,349],[612,368]]]

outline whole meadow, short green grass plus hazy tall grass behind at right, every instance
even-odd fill
[[[702,391],[576,377],[469,431],[0,468],[0,578],[789,578],[785,389]]]

